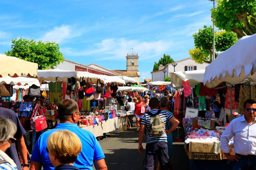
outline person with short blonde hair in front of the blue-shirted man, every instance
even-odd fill
[[[48,137],[46,149],[54,170],[80,170],[74,166],[74,162],[82,150],[82,144],[75,133],[69,130],[53,132]]]

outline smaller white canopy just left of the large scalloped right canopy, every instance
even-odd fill
[[[182,80],[189,80],[190,86],[194,86],[204,80],[205,70],[193,70],[193,71],[177,71],[171,74],[172,86],[174,88],[180,88],[183,86]]]

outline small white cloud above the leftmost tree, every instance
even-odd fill
[[[61,25],[60,27],[54,27],[52,31],[47,32],[39,40],[60,43],[66,39],[74,38],[79,35],[81,35],[81,32],[75,30],[74,27],[70,25]]]

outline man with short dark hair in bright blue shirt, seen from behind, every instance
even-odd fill
[[[79,109],[75,100],[62,100],[58,107],[60,124],[56,128],[44,132],[36,141],[31,157],[30,170],[53,170],[54,167],[50,161],[49,155],[46,151],[48,136],[57,130],[69,130],[74,132],[81,140],[82,151],[78,155],[74,166],[80,169],[93,170],[93,164],[96,169],[107,169],[105,163],[105,155],[95,138],[95,136],[77,126],[79,119]],[[56,141],[57,142],[57,141]]]

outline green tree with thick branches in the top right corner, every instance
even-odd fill
[[[219,29],[233,31],[237,38],[256,33],[256,0],[217,0],[217,3],[211,12]]]

